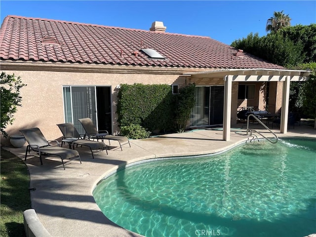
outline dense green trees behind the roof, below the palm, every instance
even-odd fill
[[[285,27],[264,37],[250,33],[231,46],[287,68],[316,62],[316,24]]]

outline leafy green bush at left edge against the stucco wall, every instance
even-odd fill
[[[8,137],[5,128],[8,124],[13,123],[13,115],[17,111],[17,107],[21,106],[22,97],[20,96],[20,89],[26,84],[22,83],[20,77],[15,77],[14,74],[7,75],[2,72],[0,76],[1,83],[1,129],[0,132],[4,137]]]

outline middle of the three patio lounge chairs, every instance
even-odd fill
[[[93,150],[96,150],[95,152],[98,152],[100,150],[104,151],[105,149],[108,155],[108,151],[107,151],[108,146],[105,145],[104,142],[96,142],[96,141],[84,139],[84,136],[79,134],[74,124],[67,122],[67,123],[60,123],[56,125],[59,127],[60,131],[62,132],[64,136],[62,140],[62,145],[63,145],[63,142],[68,142],[69,146],[71,144],[73,145],[73,148],[75,148],[75,145],[77,145],[77,147],[78,145],[86,146],[90,149],[92,158],[94,158]]]

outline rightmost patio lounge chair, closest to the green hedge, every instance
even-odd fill
[[[103,133],[99,133],[99,131],[97,131],[95,125],[93,124],[93,121],[91,118],[80,118],[78,120],[82,124],[82,127],[85,130],[85,136],[87,136],[88,139],[97,139],[98,141],[99,139],[101,139],[102,142],[104,139],[109,140],[110,145],[111,145],[111,142],[110,142],[111,140],[118,141],[121,151],[123,151],[122,145],[124,144],[128,143],[130,147],[130,143],[127,137],[109,135],[109,132],[106,130],[102,131]]]

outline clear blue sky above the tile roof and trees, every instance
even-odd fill
[[[154,21],[162,21],[166,32],[208,36],[227,44],[251,32],[265,36],[274,11],[289,14],[292,26],[316,23],[315,0],[0,0],[0,8],[1,23],[7,15],[18,15],[149,30]]]

